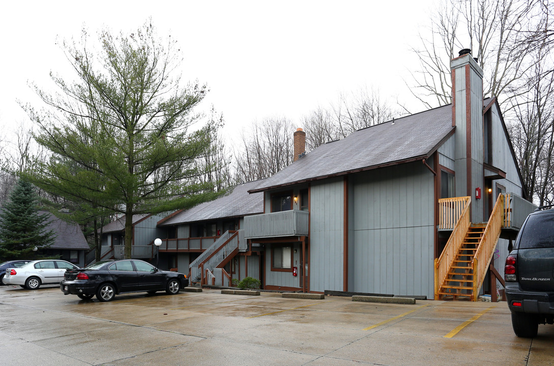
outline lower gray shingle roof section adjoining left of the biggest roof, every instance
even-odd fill
[[[248,190],[256,187],[264,180],[236,185],[229,194],[210,202],[203,202],[188,210],[179,210],[158,221],[158,225],[176,225],[193,221],[234,218],[263,213],[263,193],[248,194]]]

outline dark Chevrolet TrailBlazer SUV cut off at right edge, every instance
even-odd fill
[[[504,267],[506,299],[518,337],[535,337],[554,323],[554,209],[527,216]]]

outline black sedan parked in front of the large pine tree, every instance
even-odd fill
[[[100,261],[84,269],[67,270],[60,283],[64,295],[72,293],[83,300],[96,295],[100,301],[113,300],[116,294],[125,292],[165,290],[175,295],[187,286],[187,276],[182,273],[160,271],[137,259]]]

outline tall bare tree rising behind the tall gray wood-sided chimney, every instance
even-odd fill
[[[524,76],[530,50],[517,47],[529,19],[527,0],[449,0],[430,20],[431,38],[414,48],[420,69],[414,71],[412,94],[428,108],[449,104],[452,80],[449,61],[470,48],[484,70],[484,95],[499,98],[505,109],[525,94]]]

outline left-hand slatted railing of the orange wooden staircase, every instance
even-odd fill
[[[454,230],[452,230],[452,234],[450,234],[450,238],[443,252],[438,258],[435,258],[435,300],[439,300],[440,287],[443,285],[444,280],[447,279],[448,270],[456,259],[456,254],[458,254],[458,250],[471,224],[469,217],[471,197],[467,196],[462,198],[465,200],[464,209],[461,211],[458,220],[456,220]]]

